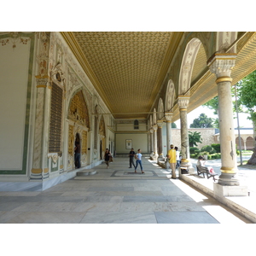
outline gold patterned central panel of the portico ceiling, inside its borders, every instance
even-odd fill
[[[166,65],[173,32],[73,34],[113,116],[145,118],[166,75],[161,71]]]

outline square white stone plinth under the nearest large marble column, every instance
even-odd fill
[[[219,183],[213,183],[213,193],[217,197],[224,196],[247,196],[247,186],[227,186]]]

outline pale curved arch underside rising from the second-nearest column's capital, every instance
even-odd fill
[[[187,91],[190,88],[195,58],[200,46],[201,40],[198,38],[191,39],[186,46],[178,80],[178,95],[189,95]]]

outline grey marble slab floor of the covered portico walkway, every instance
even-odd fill
[[[250,224],[228,207],[143,158],[102,163],[43,192],[0,192],[1,224]],[[178,176],[178,173],[177,173]]]

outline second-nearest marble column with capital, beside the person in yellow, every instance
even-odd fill
[[[189,132],[188,132],[188,120],[187,120],[187,108],[189,106],[189,96],[178,96],[178,107],[180,111],[180,132],[181,132],[181,167],[187,167],[189,173],[194,173],[195,168],[193,168],[190,161],[189,154]]]

